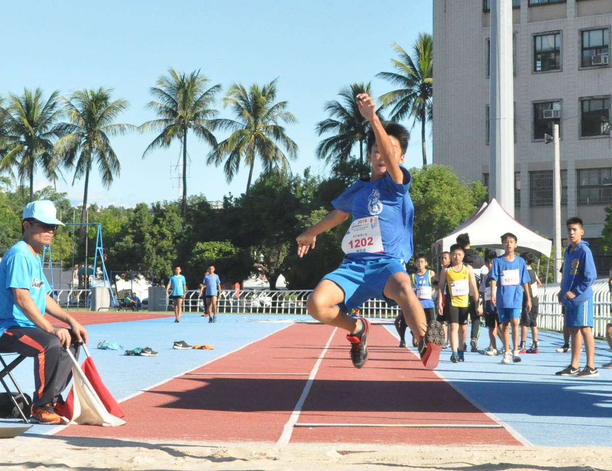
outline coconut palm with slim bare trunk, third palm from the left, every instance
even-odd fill
[[[221,90],[220,84],[207,89],[209,79],[200,75],[200,70],[190,74],[168,69],[168,76],[160,77],[156,87],[149,89],[157,101],[149,101],[147,109],[152,109],[159,119],[147,121],[140,131],[160,131],[153,142],[144,150],[143,158],[155,148],[169,147],[174,139],[182,143],[182,181],[183,196],[181,213],[187,211],[187,131],[192,130],[196,137],[214,147],[217,139],[212,134],[215,129],[217,110],[211,106],[215,95]]]

